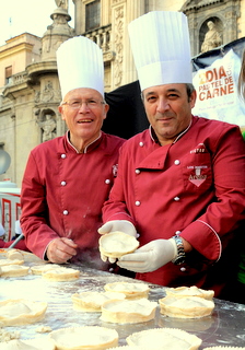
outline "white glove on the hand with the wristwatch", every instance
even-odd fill
[[[152,272],[177,256],[177,245],[173,238],[152,241],[131,254],[121,256],[117,265],[135,272]]]

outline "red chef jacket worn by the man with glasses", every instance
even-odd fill
[[[21,226],[27,247],[40,258],[60,236],[73,240],[78,257],[90,260],[97,256],[102,206],[117,175],[125,140],[102,132],[84,153],[78,153],[68,132],[31,152],[21,190]]]

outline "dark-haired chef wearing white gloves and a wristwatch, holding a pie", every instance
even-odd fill
[[[138,279],[229,298],[245,214],[240,128],[191,115],[196,91],[183,13],[144,14],[129,24],[129,35],[150,128],[121,147],[100,233],[139,233],[141,247],[117,262]]]

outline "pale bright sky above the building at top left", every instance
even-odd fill
[[[50,14],[55,9],[55,0],[0,0],[0,46],[25,32],[42,37],[52,23]],[[72,0],[68,11],[72,18],[68,23],[74,27]]]

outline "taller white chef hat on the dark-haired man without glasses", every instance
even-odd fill
[[[141,91],[170,83],[192,83],[187,18],[152,11],[128,26]]]

